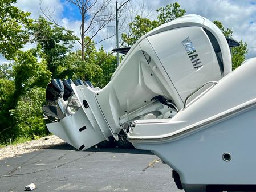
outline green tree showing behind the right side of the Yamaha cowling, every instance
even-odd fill
[[[213,23],[216,24],[218,28],[220,28],[224,36],[233,38],[233,31],[230,28],[225,29],[225,27],[220,21],[214,21]],[[239,43],[240,43],[239,46],[231,48],[232,70],[241,66],[241,63],[245,60],[245,55],[248,52],[247,43],[242,42],[242,40],[240,40]]]

